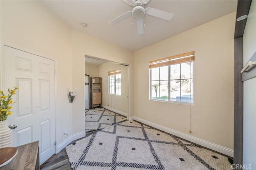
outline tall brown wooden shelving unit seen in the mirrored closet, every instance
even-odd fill
[[[102,103],[102,78],[90,77],[90,108],[100,106]]]

